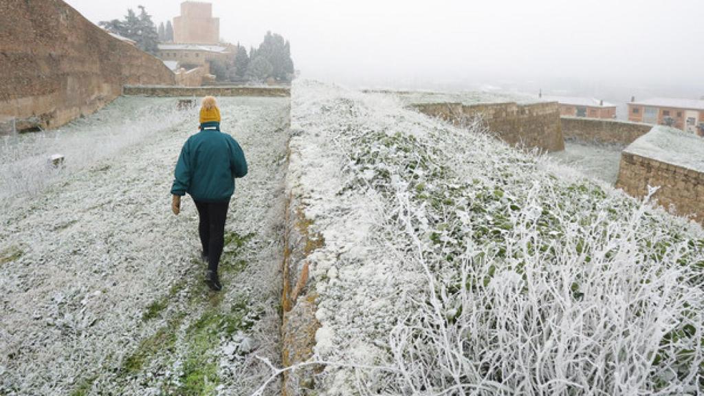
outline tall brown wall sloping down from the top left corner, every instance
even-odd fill
[[[0,120],[56,128],[126,84],[175,83],[163,62],[115,39],[61,0],[0,1]]]

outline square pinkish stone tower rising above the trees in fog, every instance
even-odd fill
[[[220,18],[213,18],[213,4],[200,1],[181,3],[181,15],[174,18],[174,42],[218,44]]]

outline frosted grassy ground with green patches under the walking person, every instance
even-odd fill
[[[222,264],[202,282],[197,214],[170,213],[196,132],[176,99],[120,98],[0,151],[0,394],[243,394],[278,361],[288,99],[222,98],[244,148]],[[46,154],[66,156],[46,167]],[[23,180],[30,185],[23,187]]]

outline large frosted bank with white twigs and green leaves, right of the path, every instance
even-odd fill
[[[702,390],[697,225],[382,95],[299,82],[292,128],[318,394]]]

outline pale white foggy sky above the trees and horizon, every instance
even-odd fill
[[[357,86],[624,87],[704,95],[703,0],[213,0],[220,35],[291,41],[303,77]],[[93,22],[180,0],[68,0]],[[696,93],[695,93],[696,92]],[[671,95],[672,96],[672,95]]]

